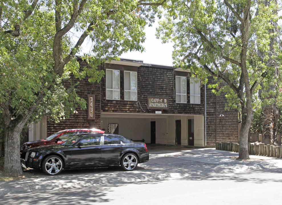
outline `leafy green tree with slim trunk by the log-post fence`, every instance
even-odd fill
[[[280,45],[269,42],[279,33],[270,33],[277,22],[278,5],[254,0],[171,1],[157,36],[174,44],[176,66],[190,69],[205,83],[215,79],[214,92],[224,91],[230,106],[242,109],[241,159],[248,159],[247,135],[253,119],[253,100],[260,82],[273,81],[273,58],[281,62]],[[260,52],[261,54],[258,54]],[[279,64],[281,67],[281,65]],[[204,72],[203,72],[204,71]],[[221,82],[226,86],[219,87]],[[219,90],[218,90],[219,89]]]

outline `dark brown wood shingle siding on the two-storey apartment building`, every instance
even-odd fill
[[[81,68],[88,66],[80,61]],[[200,87],[200,104],[190,103],[190,73],[175,71],[173,67],[162,65],[143,64],[139,67],[118,64],[102,64],[100,69],[106,73],[106,69],[119,70],[120,100],[106,99],[106,77],[100,83],[89,83],[88,77],[78,80],[74,77],[65,82],[66,88],[79,82],[77,86],[78,96],[85,99],[87,95],[95,95],[95,120],[88,120],[87,109],[77,108],[77,114],[71,114],[70,118],[61,120],[59,123],[47,122],[48,136],[64,129],[72,128],[98,128],[101,129],[101,112],[103,113],[135,113],[171,115],[205,115],[205,85]],[[124,71],[137,72],[137,101],[124,100]],[[176,103],[175,79],[176,76],[186,77],[187,103]],[[213,83],[213,78],[208,78],[208,83]],[[168,109],[148,108],[148,97],[168,98]],[[226,98],[224,93],[220,96],[212,94],[212,89],[206,86],[206,145],[214,146],[215,142],[238,143],[238,112],[236,109],[225,110]],[[223,117],[220,117],[220,114]],[[104,126],[104,125],[103,125]],[[188,125],[187,125],[188,126]],[[146,128],[150,129],[150,127]],[[107,132],[107,130],[106,130]]]

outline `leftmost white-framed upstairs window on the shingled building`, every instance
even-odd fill
[[[106,69],[106,98],[119,100],[119,70]]]

